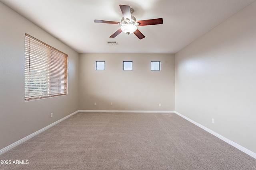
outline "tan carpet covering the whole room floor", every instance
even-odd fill
[[[175,113],[77,113],[0,160],[12,162],[1,170],[256,170],[256,159]]]

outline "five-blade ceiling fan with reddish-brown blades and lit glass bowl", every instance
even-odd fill
[[[136,18],[131,14],[134,12],[130,6],[127,5],[119,5],[123,14],[123,18],[121,22],[116,21],[104,21],[104,20],[94,20],[95,23],[112,23],[121,25],[120,29],[118,29],[114,34],[110,36],[110,38],[116,37],[122,31],[127,35],[134,33],[139,39],[145,38],[145,36],[138,30],[137,26],[143,25],[156,25],[162,24],[163,18],[151,19],[151,20],[140,20],[136,21]]]

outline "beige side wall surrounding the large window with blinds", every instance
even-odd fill
[[[0,149],[78,110],[79,56],[0,2]],[[25,33],[69,56],[68,95],[24,102]],[[50,117],[53,113],[53,117]]]

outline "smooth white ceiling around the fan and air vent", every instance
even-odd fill
[[[78,53],[176,53],[255,0],[0,0]],[[134,9],[137,20],[163,18],[140,26],[146,36],[120,33],[119,4]],[[2,14],[1,14],[2,15]],[[118,45],[107,45],[117,41]]]

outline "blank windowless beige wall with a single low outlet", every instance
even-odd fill
[[[175,54],[175,110],[253,152],[255,21],[256,2]]]

